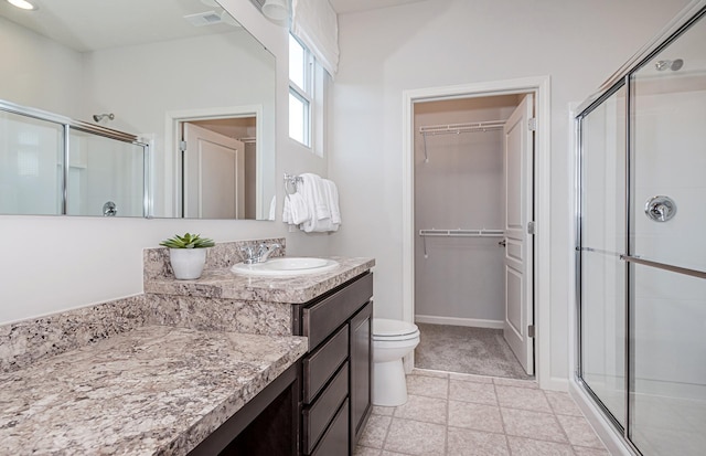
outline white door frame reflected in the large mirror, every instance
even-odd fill
[[[226,119],[238,117],[255,117],[255,167],[256,174],[263,174],[263,105],[244,105],[244,106],[226,106],[202,109],[184,109],[184,110],[169,110],[165,113],[164,124],[164,168],[170,170],[169,179],[164,179],[167,182],[167,195],[178,195],[172,198],[171,201],[167,201],[168,206],[172,209],[172,213],[180,213],[179,204],[181,200],[181,189],[176,173],[180,166],[180,151],[179,142],[181,140],[180,125],[186,121],[208,120],[208,119]],[[171,179],[171,181],[170,181]],[[263,211],[263,188],[256,187],[255,191],[255,204],[257,208],[257,220],[267,219],[267,214],[260,214]]]

